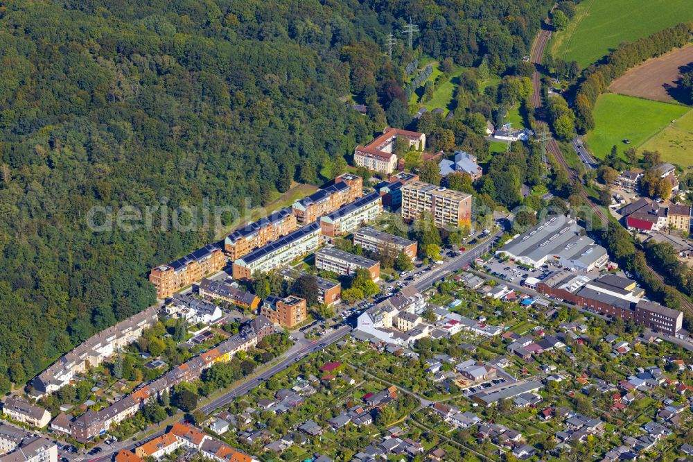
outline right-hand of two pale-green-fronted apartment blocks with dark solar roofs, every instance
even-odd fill
[[[320,219],[324,237],[349,234],[383,213],[383,200],[376,192],[367,194]]]

